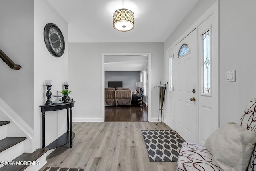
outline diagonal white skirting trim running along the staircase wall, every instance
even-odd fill
[[[34,130],[8,105],[0,98],[0,110],[8,116],[13,123],[28,135],[30,139],[34,137]]]

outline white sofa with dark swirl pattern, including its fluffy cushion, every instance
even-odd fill
[[[184,142],[177,171],[256,171],[256,99],[247,105],[241,124],[229,122],[199,145]]]

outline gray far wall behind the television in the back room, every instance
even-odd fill
[[[136,82],[140,82],[140,71],[105,71],[105,87],[109,81],[122,81],[123,87],[132,91],[137,89]]]

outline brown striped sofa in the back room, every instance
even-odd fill
[[[129,106],[131,102],[130,88],[105,88],[105,106]]]

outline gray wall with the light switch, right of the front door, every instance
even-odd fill
[[[255,0],[220,0],[220,125],[240,124],[246,105],[256,97],[255,6]],[[235,82],[225,81],[230,70],[236,70]]]

